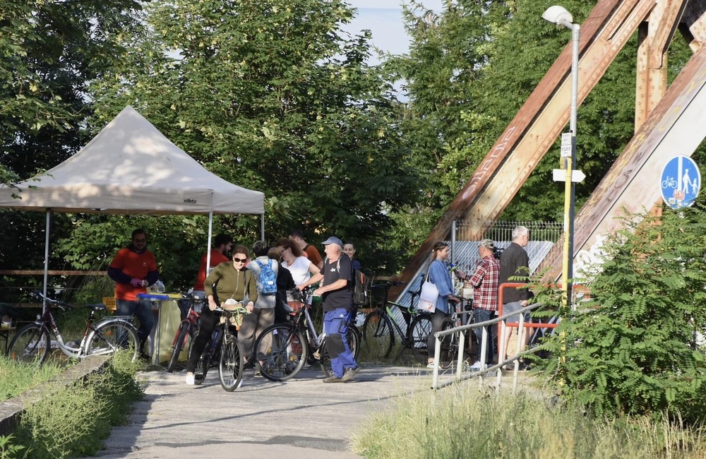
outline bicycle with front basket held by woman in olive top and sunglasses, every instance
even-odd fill
[[[218,377],[221,387],[225,391],[232,392],[240,385],[245,362],[237,334],[231,333],[231,328],[237,332],[243,323],[243,314],[248,314],[248,311],[241,302],[234,304],[225,302],[215,311],[221,313],[220,323],[213,328],[211,338],[198,359],[196,369],[193,371],[193,383],[196,386],[203,383],[208,369],[212,364],[218,362]],[[193,345],[193,341],[191,341],[191,345]],[[191,345],[189,345],[190,355]]]

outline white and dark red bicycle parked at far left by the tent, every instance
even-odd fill
[[[83,337],[76,345],[71,342],[64,342],[64,338],[59,333],[56,320],[52,314],[50,305],[56,306],[61,311],[73,309],[75,306],[45,297],[40,292],[34,292],[35,297],[42,299],[42,314],[37,314],[37,320],[20,328],[15,334],[8,347],[7,356],[19,362],[44,363],[49,355],[51,341],[49,333],[56,338],[56,345],[66,357],[83,359],[89,355],[109,355],[120,349],[128,349],[133,352],[132,361],[136,361],[140,354],[139,338],[137,328],[132,323],[131,316],[112,316],[101,319],[96,318],[96,314],[105,310],[104,304],[87,304],[90,315],[86,321]]]

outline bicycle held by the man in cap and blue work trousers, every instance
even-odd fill
[[[263,330],[255,341],[256,365],[258,371],[270,381],[287,381],[297,376],[304,365],[319,364],[326,376],[333,374],[331,359],[326,351],[325,333],[319,335],[309,314],[309,297],[312,290],[287,292],[301,304],[295,310],[290,323],[275,323]],[[348,347],[357,359],[359,349],[359,331],[350,323],[346,339]]]

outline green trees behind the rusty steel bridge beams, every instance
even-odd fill
[[[412,157],[433,184],[419,205],[434,213],[433,225],[567,46],[570,34],[543,20],[547,4],[537,1],[445,2],[438,16],[412,5],[405,15],[412,37],[409,55],[389,65],[406,81],[409,110],[402,129],[414,137]],[[581,23],[595,2],[567,0],[562,5]],[[690,56],[678,36],[672,51],[669,81]],[[576,187],[578,207],[633,136],[636,54],[635,36],[578,109],[578,168],[588,177]],[[558,156],[557,141],[502,220],[561,220],[563,187],[551,184]],[[399,217],[400,222],[408,219]],[[426,237],[430,228],[417,233]]]

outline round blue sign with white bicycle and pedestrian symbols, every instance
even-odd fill
[[[664,165],[660,184],[666,205],[673,209],[690,207],[701,189],[701,172],[690,157],[677,155]]]

